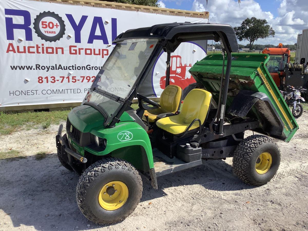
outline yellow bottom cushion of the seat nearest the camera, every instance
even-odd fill
[[[182,118],[182,116],[179,114],[157,120],[156,125],[157,127],[164,129],[166,132],[178,135],[185,132],[190,123],[184,123],[184,118]],[[199,128],[198,121],[196,121],[193,126],[189,128],[189,130],[195,128]]]

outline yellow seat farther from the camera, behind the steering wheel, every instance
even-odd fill
[[[182,88],[176,85],[168,85],[160,95],[159,104],[161,107],[152,110],[145,110],[144,114],[149,115],[149,122],[153,123],[157,115],[162,113],[175,113],[180,109]],[[146,121],[145,116],[142,119]]]

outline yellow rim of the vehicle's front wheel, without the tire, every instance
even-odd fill
[[[111,181],[103,186],[98,195],[99,205],[106,210],[120,209],[128,198],[128,188],[121,181]]]

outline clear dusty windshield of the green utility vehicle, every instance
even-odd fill
[[[82,104],[91,103],[102,109],[107,116],[105,125],[132,93],[157,42],[157,39],[127,39],[117,43],[97,74]]]

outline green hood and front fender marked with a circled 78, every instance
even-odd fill
[[[153,168],[153,154],[149,136],[147,132],[139,124],[134,122],[132,117],[124,112],[120,117],[120,122],[115,124],[113,128],[106,128],[103,125],[104,117],[96,111],[95,108],[87,105],[81,105],[75,107],[69,114],[68,119],[71,124],[79,131],[86,133],[90,132],[95,136],[99,136],[107,140],[106,148],[99,152],[88,147],[80,147],[70,138],[71,145],[84,155],[84,151],[90,152],[94,155],[103,156],[110,154],[111,152],[117,152],[116,150],[123,150],[123,148],[129,148],[125,152],[117,152],[118,155],[124,160],[131,162],[136,168],[142,166],[142,159],[139,152],[145,152],[149,168]],[[125,133],[125,134],[124,134]],[[128,136],[128,139],[123,139],[123,136]],[[123,141],[124,140],[124,141]],[[140,146],[142,149],[140,149]],[[120,157],[119,157],[120,158]]]

